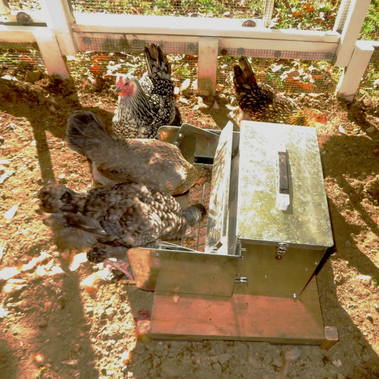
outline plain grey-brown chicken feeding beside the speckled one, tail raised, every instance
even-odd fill
[[[75,111],[68,119],[70,149],[89,158],[94,179],[103,185],[142,182],[171,195],[206,180],[209,170],[187,162],[180,150],[157,139],[124,139],[109,135],[93,113]]]

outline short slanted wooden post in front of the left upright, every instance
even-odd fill
[[[48,28],[38,29],[33,34],[49,75],[58,74],[62,79],[68,79],[70,74],[66,61],[62,56],[57,37]]]

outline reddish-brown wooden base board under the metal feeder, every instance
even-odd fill
[[[180,294],[175,300],[173,294],[155,292],[152,338],[317,345],[325,341],[315,278],[299,300],[245,294]]]

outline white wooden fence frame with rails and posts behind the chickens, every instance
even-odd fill
[[[83,43],[86,33],[103,38],[127,34],[136,39],[196,42],[199,44],[198,90],[202,95],[215,92],[220,47],[331,53],[336,57],[335,65],[345,67],[336,94],[352,99],[375,44],[358,41],[370,0],[342,0],[335,26],[326,32],[267,28],[272,15],[271,4],[272,1],[266,1],[263,20],[257,20],[255,28],[242,27],[239,19],[71,14],[67,0],[40,0],[41,11],[28,14],[41,26],[9,26],[7,24],[16,21],[17,12],[1,5],[0,41],[37,42],[48,73],[59,74],[62,78],[70,76],[65,56],[86,50]]]

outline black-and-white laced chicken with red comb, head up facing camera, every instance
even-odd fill
[[[166,55],[154,43],[144,55],[148,71],[139,81],[122,74],[116,78],[118,104],[112,126],[118,137],[155,138],[160,126],[181,125]]]

